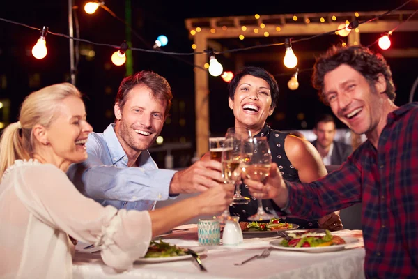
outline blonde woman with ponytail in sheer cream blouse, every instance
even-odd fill
[[[219,185],[150,212],[101,206],[65,174],[71,163],[86,160],[91,131],[79,91],[66,83],[27,96],[19,121],[3,131],[0,278],[72,278],[68,235],[100,245],[104,263],[125,270],[144,256],[153,236],[231,202],[233,186]]]

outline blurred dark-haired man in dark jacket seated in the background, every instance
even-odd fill
[[[334,117],[330,114],[323,114],[318,117],[314,126],[314,133],[317,139],[311,143],[318,150],[324,165],[341,165],[353,152],[350,145],[334,140],[336,125]]]

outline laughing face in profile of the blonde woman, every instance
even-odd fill
[[[75,96],[65,98],[46,134],[56,161],[78,163],[86,160],[86,142],[92,130],[86,121],[83,101]]]

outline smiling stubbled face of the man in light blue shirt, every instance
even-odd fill
[[[131,89],[122,110],[115,104],[115,133],[129,158],[136,159],[155,142],[164,124],[165,109],[166,102],[153,98],[152,91],[143,85]]]

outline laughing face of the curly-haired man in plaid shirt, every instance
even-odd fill
[[[356,134],[373,133],[383,117],[386,83],[382,76],[373,86],[352,67],[342,64],[324,77],[324,94],[332,112]]]

